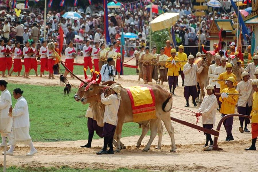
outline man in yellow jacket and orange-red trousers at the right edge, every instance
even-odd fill
[[[255,143],[258,136],[258,79],[253,79],[252,87],[255,91],[253,93],[253,109],[250,114],[251,117],[251,128],[252,128],[252,145],[245,150],[256,150]]]

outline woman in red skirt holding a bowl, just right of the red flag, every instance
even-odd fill
[[[75,52],[75,49],[73,48],[73,41],[69,41],[68,45],[69,45],[69,47],[67,47],[65,49],[65,66],[71,72],[73,72],[73,62],[74,62],[74,58],[76,56],[76,52]],[[69,72],[67,70],[65,70],[64,77],[66,77],[68,73]],[[74,78],[73,76],[71,76],[71,77]]]

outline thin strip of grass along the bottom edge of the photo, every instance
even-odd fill
[[[0,171],[3,171],[3,168],[0,168]],[[72,169],[69,167],[38,167],[38,168],[21,168],[21,167],[9,167],[6,170],[7,172],[148,172],[149,170],[142,170],[142,169],[126,169],[126,168],[120,168],[120,169],[113,169],[113,170],[104,170],[104,169]]]

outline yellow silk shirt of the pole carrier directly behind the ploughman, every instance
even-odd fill
[[[238,93],[238,91],[236,91],[236,89],[233,87],[230,89],[229,88],[223,89],[222,93]],[[228,95],[228,98],[224,98],[224,99],[222,99],[222,97],[220,97],[219,100],[222,102],[221,108],[220,108],[220,113],[222,113],[222,114],[234,114],[235,113],[235,105],[238,101],[238,95]]]

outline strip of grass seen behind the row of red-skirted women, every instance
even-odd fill
[[[94,66],[93,66],[93,68],[94,68]],[[65,69],[61,64],[60,64],[60,69],[61,69],[62,73],[64,73]],[[136,69],[134,69],[134,68],[124,67],[123,69],[124,69],[124,75],[136,75]],[[12,70],[12,68],[11,68],[11,70]],[[21,70],[21,75],[24,74],[24,70],[25,70],[25,68],[23,65],[22,70]],[[73,73],[75,75],[84,75],[83,66],[74,65]],[[86,73],[87,73],[87,75],[90,75],[89,68]],[[5,74],[7,75],[7,71],[5,71]],[[38,65],[38,75],[39,74],[40,74],[40,65]],[[48,72],[45,72],[44,74],[48,75]],[[13,73],[12,75],[17,75],[17,73]],[[30,75],[35,75],[35,72],[33,69],[30,71]]]

